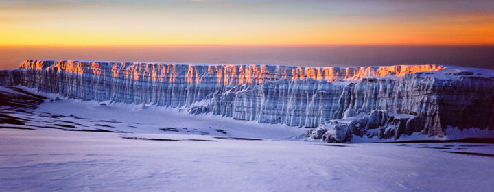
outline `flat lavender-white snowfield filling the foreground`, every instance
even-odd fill
[[[323,145],[208,135],[0,129],[0,146],[0,191],[494,189],[492,156],[448,153],[494,154],[492,144]]]

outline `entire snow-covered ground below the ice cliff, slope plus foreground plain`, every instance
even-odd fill
[[[0,86],[0,191],[494,189],[494,144],[328,144],[305,128],[30,94]]]

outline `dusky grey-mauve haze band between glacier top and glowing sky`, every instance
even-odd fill
[[[24,60],[126,60],[357,67],[445,64],[494,69],[494,46],[0,47],[0,69]]]

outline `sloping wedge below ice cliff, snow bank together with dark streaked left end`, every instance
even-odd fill
[[[191,115],[182,108],[58,99],[58,95],[47,93],[36,93],[38,95],[34,97],[28,94],[32,94],[29,89],[25,91],[0,86],[0,128],[200,134],[292,140],[304,139],[307,134],[305,128],[237,121],[217,115]]]

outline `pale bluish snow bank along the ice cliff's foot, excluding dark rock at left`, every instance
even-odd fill
[[[49,95],[45,95],[49,96]],[[242,136],[262,139],[300,139],[305,136],[305,128],[281,124],[261,124],[256,121],[237,121],[215,115],[191,115],[186,110],[140,105],[108,103],[102,106],[96,101],[62,99],[45,102],[35,110],[53,115],[73,115],[64,117],[73,123],[94,128],[94,125],[117,132],[167,133],[167,134],[209,134],[216,136]],[[87,120],[87,119],[91,120]],[[43,124],[43,122],[40,122]],[[174,128],[178,131],[160,130]],[[222,130],[226,134],[222,133]]]

